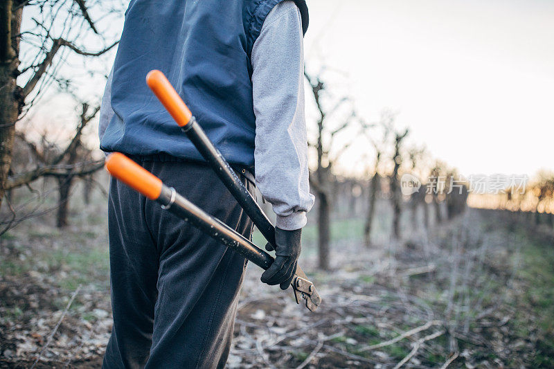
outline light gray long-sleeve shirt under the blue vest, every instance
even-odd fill
[[[314,204],[307,168],[304,114],[304,55],[300,11],[283,1],[267,15],[251,57],[253,103],[256,114],[256,186],[273,206],[281,229],[306,224]],[[111,109],[108,77],[100,108],[100,139]]]

